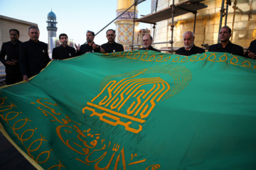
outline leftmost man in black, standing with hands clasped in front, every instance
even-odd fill
[[[11,41],[4,42],[1,47],[0,61],[6,67],[6,84],[15,84],[22,81],[21,68],[18,63],[18,48],[21,44],[19,31],[16,29],[9,30]],[[5,56],[6,60],[5,60]]]

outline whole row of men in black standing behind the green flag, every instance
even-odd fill
[[[48,45],[38,40],[40,32],[36,26],[28,28],[28,35],[30,40],[21,42],[18,40],[19,31],[16,29],[9,30],[11,41],[4,42],[1,47],[0,61],[6,67],[6,84],[15,84],[19,81],[26,80],[35,76],[50,62],[48,55]],[[240,55],[242,57],[249,57],[256,59],[256,40],[250,43],[247,52],[243,52],[240,45],[235,45],[230,42],[231,29],[224,26],[220,29],[219,38],[220,43],[210,45],[209,52],[228,52],[233,55]],[[53,60],[64,60],[71,57],[83,55],[86,52],[122,52],[123,45],[115,42],[115,31],[110,29],[106,32],[107,43],[97,45],[94,42],[95,33],[88,30],[86,33],[86,43],[81,45],[75,44],[74,47],[68,46],[68,35],[62,33],[59,35],[60,46],[53,48]],[[191,31],[183,34],[184,47],[176,51],[177,55],[195,55],[205,52],[203,48],[194,45],[195,35]],[[160,52],[152,47],[153,38],[151,35],[144,35],[143,48],[139,50],[152,50]],[[5,57],[6,56],[6,57]]]

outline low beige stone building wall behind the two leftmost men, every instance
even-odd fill
[[[29,23],[15,18],[0,16],[0,47],[3,42],[10,41],[9,30],[12,28],[17,29],[20,32],[19,40],[22,42],[29,40],[28,28],[30,26],[38,25],[36,23]]]

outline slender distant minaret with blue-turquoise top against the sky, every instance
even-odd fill
[[[56,15],[53,13],[53,10],[48,13],[46,23],[48,23],[48,53],[50,55],[53,50],[53,38],[56,37],[56,32],[58,29],[56,26]]]

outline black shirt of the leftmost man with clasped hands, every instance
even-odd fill
[[[21,41],[16,41],[15,44],[13,44],[11,41],[4,42],[1,47],[0,52],[0,61],[4,64],[6,67],[6,74],[21,74],[21,69],[19,64],[16,64],[14,66],[6,65],[6,61],[12,61],[12,60],[18,60],[18,48],[19,45],[21,45]],[[5,56],[6,60],[5,60]]]

